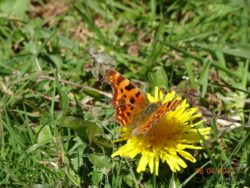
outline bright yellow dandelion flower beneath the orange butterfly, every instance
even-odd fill
[[[154,96],[147,94],[151,103],[161,101],[162,104],[174,99],[180,99],[174,91],[166,96],[155,88]],[[202,149],[195,144],[202,141],[201,137],[208,138],[210,128],[197,128],[202,120],[193,123],[193,120],[200,118],[197,108],[190,108],[186,100],[173,111],[166,113],[146,135],[133,135],[131,128],[123,128],[120,140],[126,140],[123,145],[112,154],[112,157],[134,158],[141,155],[137,172],[146,170],[149,166],[150,172],[158,175],[159,163],[167,163],[173,172],[186,168],[187,164],[183,159],[196,162],[196,159],[186,149]]]

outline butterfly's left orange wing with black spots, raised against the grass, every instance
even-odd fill
[[[113,88],[113,106],[116,119],[123,126],[131,126],[143,109],[149,105],[147,96],[120,73],[109,70],[106,80]]]

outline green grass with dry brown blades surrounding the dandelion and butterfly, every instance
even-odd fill
[[[0,2],[1,187],[250,186],[249,1],[51,2]],[[110,157],[120,129],[106,69],[200,108],[212,131],[196,163],[153,177]]]

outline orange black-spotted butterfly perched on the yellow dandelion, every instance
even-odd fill
[[[144,92],[114,70],[108,70],[105,78],[113,88],[116,120],[122,126],[132,128],[132,135],[146,135],[160,118],[181,102],[174,99],[164,104],[160,101],[150,103]]]

